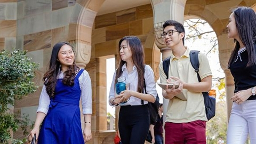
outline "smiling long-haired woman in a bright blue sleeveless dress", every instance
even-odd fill
[[[84,144],[89,141],[92,138],[91,79],[86,70],[76,66],[73,47],[69,43],[54,45],[43,81],[35,126],[29,140],[36,134],[38,144]],[[85,122],[83,132],[80,99]]]

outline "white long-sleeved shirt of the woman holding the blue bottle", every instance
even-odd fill
[[[125,63],[122,67],[122,70],[123,70],[123,74],[121,77],[123,77],[123,79],[125,79],[124,82],[126,84],[127,83],[130,84],[129,90],[137,91],[137,87],[138,87],[137,68],[135,66],[133,66],[133,69],[132,69],[131,73],[129,74],[126,69],[126,63]],[[116,95],[115,77],[116,77],[116,71],[114,73],[113,81],[112,81],[112,84],[110,87],[109,99],[115,98],[115,95]],[[145,83],[146,83],[146,92],[148,94],[151,94],[156,99],[157,91],[156,91],[156,83],[155,83],[155,78],[154,78],[154,71],[151,69],[151,67],[149,65],[145,65],[144,78],[145,78]],[[148,103],[148,101],[144,101],[144,104],[147,104],[147,103]],[[110,101],[109,101],[109,105],[113,106],[112,103],[110,103]],[[120,105],[121,106],[125,106],[125,105],[138,106],[138,105],[141,105],[141,99],[131,96],[127,102],[120,103]]]

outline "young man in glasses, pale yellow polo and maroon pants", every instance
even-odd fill
[[[205,144],[205,115],[204,97],[202,92],[211,90],[212,73],[206,55],[199,52],[198,82],[195,69],[189,58],[190,50],[184,46],[185,29],[174,20],[167,20],[163,25],[162,38],[167,47],[172,49],[169,67],[169,78],[159,65],[160,81],[162,83],[179,83],[174,87],[163,89],[163,97],[169,99],[165,121],[165,143]]]

